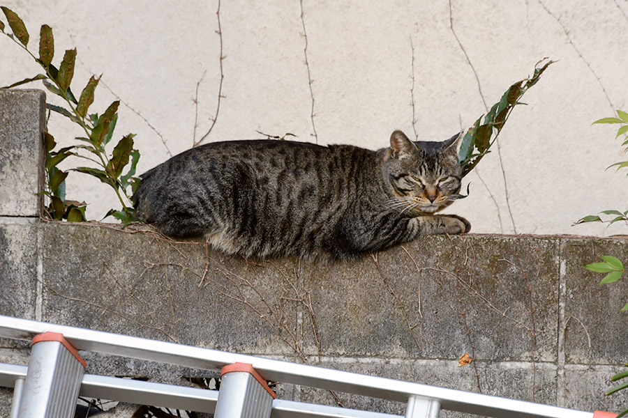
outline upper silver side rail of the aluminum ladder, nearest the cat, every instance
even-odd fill
[[[30,340],[42,332],[59,332],[78,350],[133,357],[153,362],[177,364],[195,369],[221,369],[236,362],[251,364],[265,379],[305,385],[321,389],[347,392],[407,402],[412,396],[433,399],[443,410],[511,418],[592,418],[592,412],[569,410],[516,399],[500,398],[457,389],[434,387],[390,378],[361,375],[348,371],[325,369],[306,364],[227,353],[220,350],[184,346],[167,341],[154,341],[85,330],[66,325],[54,325],[34,320],[0,316],[0,336]]]

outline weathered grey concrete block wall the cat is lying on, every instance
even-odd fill
[[[42,103],[40,92],[0,91],[0,119],[6,109]],[[13,115],[32,123],[41,108],[27,112],[32,117]],[[38,166],[17,157],[24,146],[40,149],[38,121],[27,137],[13,134],[26,132],[19,123],[0,125],[0,147],[15,155],[0,165],[9,173],[0,183],[0,314],[568,408],[626,408],[625,394],[603,392],[628,360],[628,318],[620,312],[628,281],[599,286],[583,268],[603,254],[628,261],[625,240],[428,236],[354,263],[319,265],[207,253],[202,242],[174,242],[145,227],[48,222],[37,217],[36,189],[23,193],[24,183],[10,180],[29,167],[20,176],[38,184]],[[27,364],[28,353],[23,343],[0,341],[1,362]],[[475,361],[459,366],[465,353]],[[89,373],[178,383],[215,376],[86,357]],[[335,403],[324,391],[278,390]],[[345,406],[403,413],[399,403],[338,396]],[[0,417],[9,403],[3,390]]]

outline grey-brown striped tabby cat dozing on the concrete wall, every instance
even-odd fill
[[[467,233],[435,215],[461,197],[458,135],[390,148],[293,141],[214,142],[142,175],[137,214],[173,237],[246,257],[355,258],[426,234]]]

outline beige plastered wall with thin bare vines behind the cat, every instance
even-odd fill
[[[221,40],[223,98],[208,141],[260,137],[256,130],[314,141],[313,125],[319,144],[381,148],[394,129],[446,139],[549,56],[558,62],[526,93],[529,106],[514,110],[500,153],[465,178],[471,194],[451,211],[474,232],[628,232],[571,226],[599,210],[628,209],[625,173],[604,171],[624,157],[621,142],[612,126],[591,126],[628,110],[626,0],[304,0],[302,20],[297,0],[223,0],[221,36],[216,1],[0,3],[24,19],[33,50],[44,23],[54,30],[54,62],[77,47],[75,91],[104,74],[92,110],[120,98],[117,136],[137,133],[140,171],[190,148],[196,118],[196,138],[207,132]],[[0,38],[1,85],[37,72]],[[68,141],[73,127],[54,116],[52,134]],[[87,201],[89,217],[116,204],[107,187],[82,175],[70,175],[68,198]]]

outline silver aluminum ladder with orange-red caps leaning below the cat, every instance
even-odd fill
[[[276,399],[267,380],[406,402],[405,418],[436,418],[441,409],[509,418],[617,416],[10,316],[0,316],[0,337],[33,343],[28,367],[0,363],[0,386],[14,388],[11,418],[70,418],[79,395],[209,412],[216,418],[398,418]],[[85,374],[77,350],[222,369],[220,390]]]

